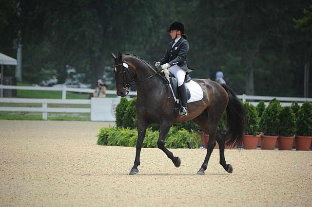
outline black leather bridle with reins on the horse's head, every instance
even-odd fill
[[[122,81],[116,81],[117,84],[122,84],[123,85],[123,89],[127,90],[128,92],[130,91],[130,86],[131,86],[131,82],[135,80],[135,76],[133,76],[133,74],[131,74],[131,72],[129,71],[129,66],[128,64],[124,61],[124,59],[121,60],[122,63],[114,65],[114,67],[116,68],[117,66],[122,66],[122,69],[120,71],[120,73],[123,73],[123,80]],[[135,84],[139,85],[144,83],[145,81],[147,81],[148,79],[152,78],[153,76],[159,74],[161,72],[161,70],[154,70],[153,71],[155,73],[153,73],[152,75],[148,76],[147,78],[144,78],[142,80],[136,81]],[[117,72],[117,71],[115,71]],[[130,76],[130,77],[129,77]]]

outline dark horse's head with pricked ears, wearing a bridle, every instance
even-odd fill
[[[114,53],[111,53],[115,61],[114,73],[117,87],[117,95],[125,97],[128,95],[130,90],[130,82],[134,79],[133,70],[130,68],[128,63],[123,59],[122,53],[118,52],[116,57]]]

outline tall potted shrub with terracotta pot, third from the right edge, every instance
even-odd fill
[[[260,120],[260,129],[264,133],[261,135],[261,149],[273,150],[278,138],[278,123],[281,105],[278,100],[273,99],[268,107],[264,109]]]

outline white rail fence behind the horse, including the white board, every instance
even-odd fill
[[[15,111],[15,112],[41,112],[42,119],[47,120],[48,112],[65,112],[65,113],[91,113],[91,121],[115,121],[115,108],[119,103],[120,98],[92,98],[86,99],[66,99],[66,92],[81,92],[93,93],[94,89],[84,88],[63,88],[57,87],[40,87],[40,86],[4,86],[0,85],[1,89],[19,89],[19,90],[47,90],[47,91],[62,91],[62,99],[22,99],[22,98],[0,98],[0,103],[17,103],[17,104],[42,104],[42,107],[15,107],[7,106],[0,107],[0,111]],[[115,90],[107,90],[106,94],[116,95]],[[130,96],[136,96],[137,92],[130,92]],[[302,104],[303,102],[312,102],[312,98],[295,98],[295,97],[273,97],[273,96],[249,96],[238,95],[243,102],[249,102],[257,105],[258,101],[265,101],[265,104],[276,98],[281,102],[282,106],[291,105],[293,102]],[[90,108],[57,108],[48,107],[48,104],[90,104]]]

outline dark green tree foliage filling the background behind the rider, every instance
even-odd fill
[[[215,79],[220,68],[237,93],[303,95],[309,0],[28,0],[21,1],[20,17],[16,3],[1,1],[0,52],[15,56],[21,29],[23,79],[30,83],[46,71],[63,81],[68,66],[94,83],[112,69],[110,52],[159,60],[171,41],[166,30],[178,20],[190,43],[192,77]]]

